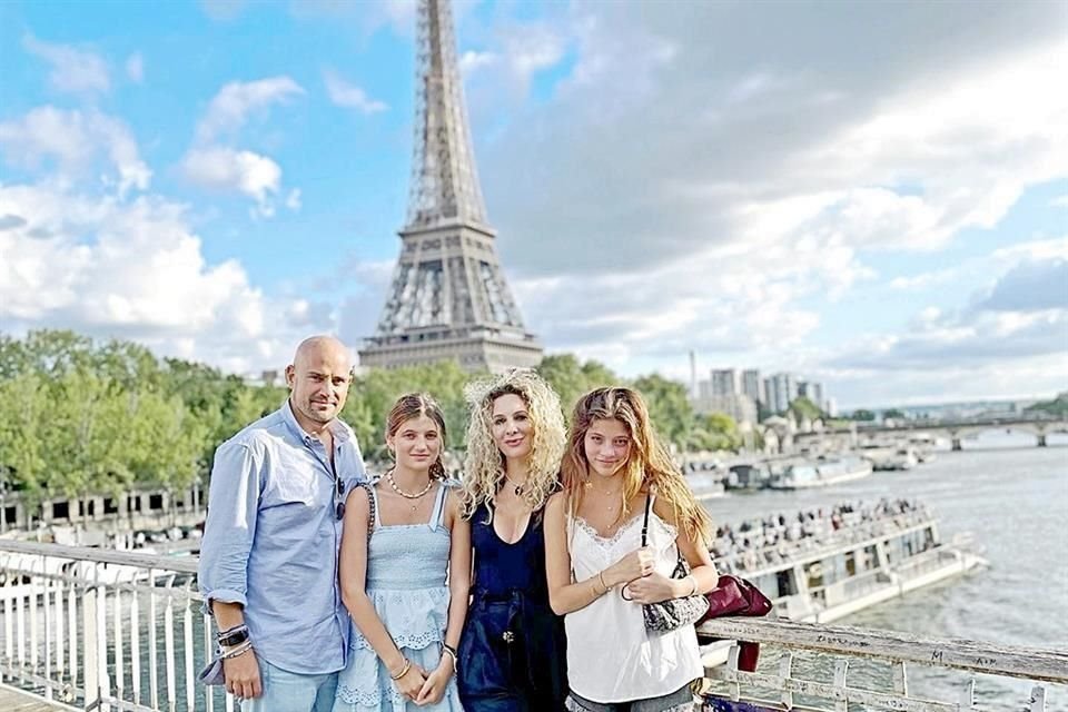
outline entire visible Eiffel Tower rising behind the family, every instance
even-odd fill
[[[400,257],[364,366],[455,359],[467,370],[536,366],[501,269],[471,148],[448,0],[421,0],[415,155]]]

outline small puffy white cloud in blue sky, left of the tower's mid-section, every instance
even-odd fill
[[[270,158],[251,151],[214,147],[190,150],[181,167],[194,184],[211,190],[240,192],[256,201],[259,216],[275,214],[274,198],[281,187],[281,168]]]

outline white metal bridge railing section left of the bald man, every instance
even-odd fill
[[[79,709],[234,710],[197,560],[0,540],[0,682]]]

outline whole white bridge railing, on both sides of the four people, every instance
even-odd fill
[[[67,709],[233,712],[231,696],[196,682],[214,647],[196,566],[192,557],[0,540],[0,682]],[[1015,709],[1044,712],[1039,683],[1068,683],[1068,653],[1058,651],[751,619],[715,620],[701,632],[764,645],[750,673],[738,669],[736,643],[724,644],[726,664],[706,671],[706,710],[749,701],[799,711],[992,712],[1005,704],[973,702],[990,696],[995,675],[1031,681]],[[978,694],[972,679],[952,699],[928,694],[909,679],[916,668],[981,674]],[[916,676],[922,682],[922,670]],[[1058,694],[1068,701],[1068,689]]]

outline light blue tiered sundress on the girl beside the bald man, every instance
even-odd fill
[[[446,484],[437,487],[434,513],[426,524],[383,526],[375,497],[375,528],[367,543],[367,595],[393,641],[413,664],[437,668],[448,620],[449,532],[442,523]],[[463,712],[455,675],[437,704],[416,706],[397,692],[389,671],[378,660],[355,623],[348,664],[337,680],[334,712]]]

